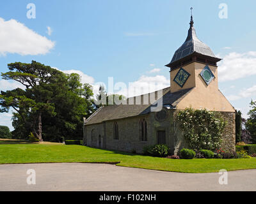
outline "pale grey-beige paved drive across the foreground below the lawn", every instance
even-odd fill
[[[36,184],[27,184],[27,170]],[[1,164],[0,191],[256,191],[256,170],[228,171],[228,184],[218,173],[175,173],[111,164]]]

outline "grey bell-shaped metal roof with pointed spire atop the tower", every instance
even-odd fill
[[[216,62],[220,61],[221,59],[214,55],[211,48],[197,38],[192,14],[189,24],[190,27],[188,30],[188,36],[186,38],[186,41],[180,46],[178,50],[176,50],[175,54],[172,57],[172,61],[166,66],[171,67],[173,63],[180,61],[184,57],[192,54],[204,55],[207,57],[211,57],[211,59],[214,59],[214,61]]]

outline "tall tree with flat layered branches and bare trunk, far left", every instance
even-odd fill
[[[1,73],[5,80],[15,80],[26,87],[25,90],[14,89],[1,91],[1,112],[8,112],[12,107],[20,115],[27,128],[40,140],[42,139],[42,114],[48,113],[54,116],[54,97],[52,85],[63,83],[63,73],[50,66],[45,66],[36,61],[31,64],[15,62],[8,64],[10,71]]]

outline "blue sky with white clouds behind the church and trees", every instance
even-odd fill
[[[27,18],[29,3],[36,6],[36,18]],[[221,3],[228,6],[228,18],[218,15]],[[198,38],[223,58],[220,91],[246,117],[256,98],[253,0],[2,1],[0,72],[8,71],[10,62],[35,60],[77,71],[90,84],[107,84],[114,77],[114,82],[161,81],[167,86],[164,64],[186,39],[191,6]],[[15,85],[0,79],[0,90]],[[0,113],[0,125],[12,129],[11,115]]]

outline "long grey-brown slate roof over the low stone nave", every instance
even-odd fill
[[[170,105],[171,108],[175,108],[179,101],[188,94],[191,89],[183,89],[177,92],[170,92],[170,87],[163,89],[163,105]],[[155,92],[157,96],[157,91]],[[138,97],[138,96],[136,96]],[[129,100],[134,100],[136,97],[127,99],[127,105],[109,105],[100,107],[94,112],[88,119],[84,121],[86,125],[97,124],[106,120],[123,119],[126,117],[132,117],[136,115],[143,115],[150,113],[150,108],[154,105],[143,105],[143,95],[141,95],[141,105],[128,105]],[[161,99],[161,98],[160,98]],[[157,101],[157,100],[156,100]]]

